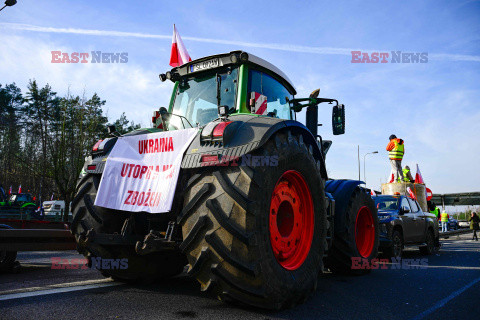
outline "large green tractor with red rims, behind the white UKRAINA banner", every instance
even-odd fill
[[[114,137],[93,148],[72,202],[79,251],[92,263],[128,260],[128,268],[101,269],[105,276],[151,281],[187,265],[202,291],[221,300],[281,309],[305,301],[327,269],[369,272],[378,253],[377,210],[361,181],[328,177],[332,142],[317,132],[322,103],[333,107],[333,133],[345,132],[343,105],[319,98],[319,90],[295,98],[282,71],[244,51],[197,59],[160,79],[174,83],[169,108],[155,112],[153,128],[123,136],[110,128]],[[303,109],[305,125],[296,121]],[[95,205],[101,184],[114,177],[104,171],[120,142],[191,128],[197,131],[182,149],[170,210]],[[124,161],[142,152],[129,150]],[[153,142],[145,150],[155,150]],[[103,197],[123,197],[120,183],[113,186]]]

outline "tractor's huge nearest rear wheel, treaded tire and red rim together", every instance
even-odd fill
[[[290,131],[276,133],[251,156],[269,164],[209,167],[191,177],[177,220],[180,249],[202,291],[224,301],[289,308],[316,290],[323,270],[320,162]]]

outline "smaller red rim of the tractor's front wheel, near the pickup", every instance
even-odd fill
[[[355,243],[358,253],[363,258],[368,258],[375,243],[375,225],[372,212],[368,207],[361,207],[355,220]]]

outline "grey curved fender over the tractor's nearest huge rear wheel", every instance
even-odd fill
[[[241,158],[264,146],[276,133],[290,130],[301,134],[304,142],[312,146],[313,156],[320,161],[321,176],[325,180],[328,179],[325,161],[318,143],[312,133],[300,122],[248,114],[232,115],[228,120],[232,123],[225,128],[221,141],[205,139],[209,132],[203,132],[209,127],[213,130],[215,123],[220,123],[219,119],[212,121],[198,133],[185,152],[182,169],[218,165],[218,163],[202,163],[204,155],[218,155],[220,161],[222,158],[226,159],[221,161],[222,163]]]

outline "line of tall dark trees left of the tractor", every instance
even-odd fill
[[[65,200],[66,219],[85,157],[108,136],[107,126],[120,134],[140,127],[125,113],[109,123],[105,104],[96,93],[62,97],[35,80],[25,93],[15,83],[0,84],[0,186],[8,194],[21,185],[38,203],[52,195]]]

